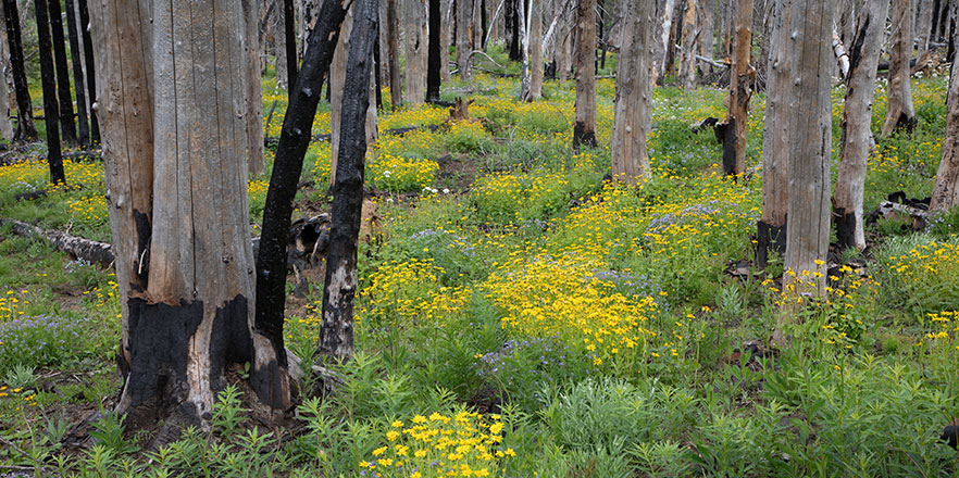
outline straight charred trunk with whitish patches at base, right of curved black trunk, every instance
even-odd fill
[[[339,161],[333,186],[333,225],[326,253],[319,353],[349,358],[353,353],[353,297],[357,293],[357,241],[363,206],[366,108],[378,0],[360,0],[350,34],[342,91]]]

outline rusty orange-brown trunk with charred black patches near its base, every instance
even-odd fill
[[[733,148],[723,144],[723,172],[740,175],[746,172],[746,126],[749,97],[756,79],[756,68],[750,64],[752,53],[752,0],[736,2],[736,35],[733,38],[733,66],[730,79],[730,115],[727,127],[734,131]],[[726,137],[728,141],[728,136]]]

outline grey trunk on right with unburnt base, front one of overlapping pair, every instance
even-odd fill
[[[787,274],[786,284],[794,285],[797,292],[818,295],[825,293],[830,246],[830,89],[834,62],[829,39],[834,12],[833,0],[801,0],[793,10],[796,68],[789,121],[785,267],[796,277]]]

